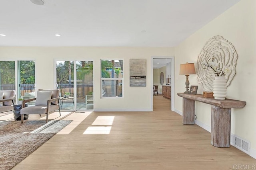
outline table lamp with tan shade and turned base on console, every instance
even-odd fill
[[[195,64],[194,63],[186,63],[186,64],[180,64],[180,75],[185,75],[186,76],[186,91],[184,93],[189,93],[188,88],[189,88],[189,81],[188,81],[188,76],[190,74],[196,74],[195,71]]]

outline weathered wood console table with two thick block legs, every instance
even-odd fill
[[[195,124],[195,101],[212,105],[211,144],[214,147],[230,147],[231,108],[242,108],[246,102],[239,100],[216,100],[202,94],[178,93],[183,98],[183,124]]]

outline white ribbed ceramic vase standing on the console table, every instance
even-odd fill
[[[225,100],[227,96],[227,83],[224,76],[216,76],[213,80],[214,99]]]

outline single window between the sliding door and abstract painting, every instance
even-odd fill
[[[101,60],[102,98],[123,96],[123,60]]]

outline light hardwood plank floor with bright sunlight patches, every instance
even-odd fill
[[[233,146],[210,145],[210,133],[198,125],[182,125],[182,116],[170,111],[170,100],[161,95],[154,96],[153,109],[63,113],[61,119],[74,121],[13,169],[231,170],[256,166],[254,158]],[[51,116],[58,117],[58,112]]]

